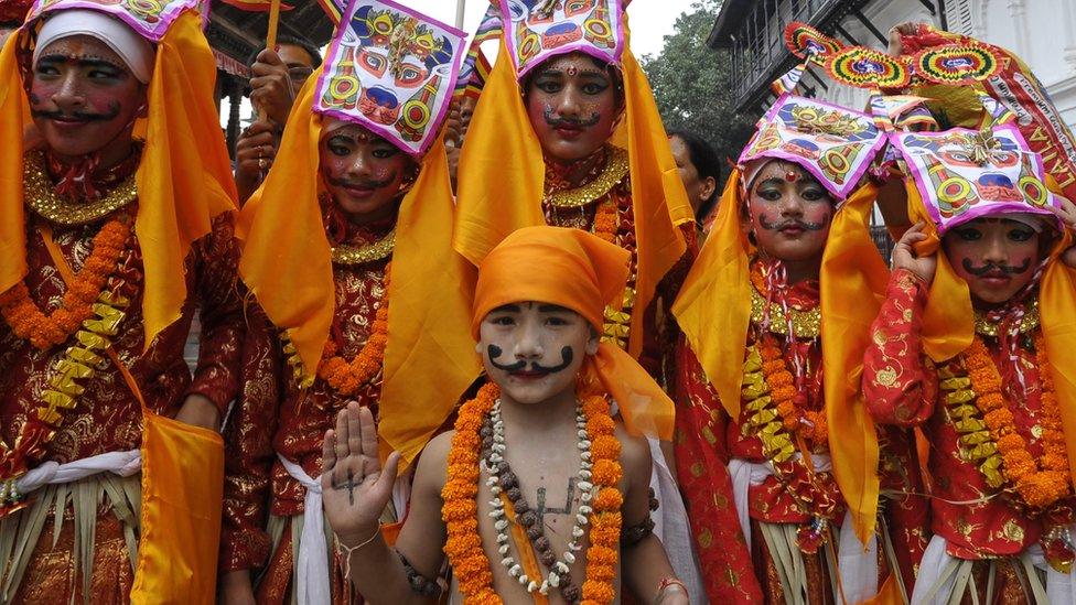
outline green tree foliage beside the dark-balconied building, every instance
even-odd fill
[[[691,12],[676,20],[657,56],[639,61],[646,72],[667,130],[695,132],[713,145],[719,156],[740,155],[752,133],[754,119],[736,112],[730,84],[730,56],[706,43],[722,0],[698,0]],[[723,171],[728,174],[728,171]]]

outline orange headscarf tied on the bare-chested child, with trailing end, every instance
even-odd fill
[[[624,291],[631,255],[579,229],[525,227],[506,237],[478,266],[472,335],[494,309],[537,301],[582,315],[601,333],[605,305]],[[588,359],[632,434],[672,436],[672,401],[638,363],[602,343]]]

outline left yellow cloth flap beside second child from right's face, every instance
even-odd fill
[[[751,323],[751,245],[740,226],[740,171],[732,171],[718,202],[713,230],[672,304],[680,329],[730,418],[740,418]]]

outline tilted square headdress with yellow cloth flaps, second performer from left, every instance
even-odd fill
[[[335,307],[319,207],[319,141],[355,123],[421,163],[396,220],[378,432],[406,462],[478,374],[467,334],[473,269],[451,247],[452,190],[440,128],[462,32],[388,0],[351,6],[324,65],[299,94],[277,161],[240,214],[239,274],[313,380]]]

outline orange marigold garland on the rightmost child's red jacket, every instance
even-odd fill
[[[1010,485],[1031,508],[1044,509],[1070,493],[1068,455],[1061,425],[1061,408],[1050,376],[1046,344],[1040,332],[1035,350],[1042,380],[1043,429],[1042,462],[1036,463],[1027,451],[1026,440],[1016,432],[1015,419],[1009,402],[1001,395],[1001,375],[982,339],[977,335],[965,354],[965,365],[976,408],[990,430],[990,436],[1001,454],[1002,471]]]

